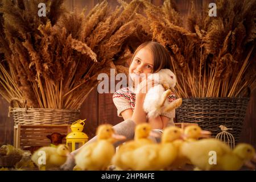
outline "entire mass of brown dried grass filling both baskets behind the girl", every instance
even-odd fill
[[[187,26],[171,0],[118,0],[114,10],[103,1],[88,15],[44,0],[39,18],[40,2],[0,1],[0,94],[9,102],[79,109],[100,73],[127,73],[132,53],[151,40],[170,53],[177,97],[244,97],[256,87],[255,0],[218,0],[217,17],[197,14],[192,1]]]

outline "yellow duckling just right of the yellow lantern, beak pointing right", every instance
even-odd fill
[[[97,142],[82,147],[75,156],[78,169],[106,170],[115,154],[114,139],[125,139],[125,137],[114,133],[112,125],[100,125],[96,134]]]

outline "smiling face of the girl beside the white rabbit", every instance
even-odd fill
[[[135,81],[135,78],[139,78],[138,80],[141,82],[144,78],[147,78],[147,73],[152,73],[153,66],[154,57],[150,49],[142,48],[134,56],[129,67],[131,79]]]

